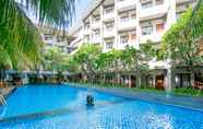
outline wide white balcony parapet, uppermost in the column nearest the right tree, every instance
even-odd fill
[[[164,4],[160,5],[154,5],[151,8],[141,8],[140,11],[140,17],[141,20],[147,20],[147,19],[154,19],[163,16],[167,13],[168,10],[168,3],[164,2]]]

